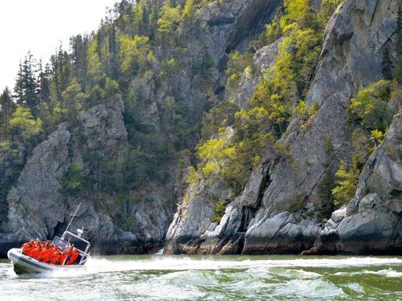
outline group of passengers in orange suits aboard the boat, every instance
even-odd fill
[[[31,241],[24,243],[21,249],[26,256],[41,262],[57,265],[70,265],[79,256],[77,248],[71,245],[63,251],[58,245],[50,241],[41,242],[39,238],[35,241],[31,239]]]

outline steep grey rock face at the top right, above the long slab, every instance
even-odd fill
[[[329,21],[315,83],[308,101],[322,104],[333,93],[346,95],[381,78],[382,47],[396,37],[396,0],[350,0]]]

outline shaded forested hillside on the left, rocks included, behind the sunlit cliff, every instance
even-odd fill
[[[122,1],[107,11],[96,32],[60,45],[50,63],[27,54],[15,87],[6,88],[1,98],[0,219],[5,233],[14,229],[7,223],[17,195],[17,201],[26,198],[30,210],[39,210],[39,219],[46,220],[37,232],[41,235],[60,231],[64,211],[73,200],[83,200],[110,215],[116,231],[140,232],[143,238],[136,237],[135,244],[147,240],[152,246],[163,239],[194,160],[203,112],[224,95],[225,52],[239,43],[247,48],[245,42],[256,37],[280,2],[210,3]],[[118,116],[110,114],[120,110],[120,97],[124,126],[116,127],[110,122],[119,122]],[[121,133],[118,138],[110,134],[111,127]],[[53,173],[49,167],[64,150],[57,139],[46,139],[64,130],[72,135],[64,141],[68,156]],[[35,147],[49,143],[55,143],[53,153],[46,148],[50,157],[36,162]],[[44,152],[43,146],[37,151]],[[25,183],[29,167],[38,164],[35,175],[45,172],[49,179]],[[30,185],[38,187],[31,201],[21,189]],[[13,186],[17,193],[10,193]],[[63,213],[47,221],[41,208],[51,206],[56,195]],[[95,232],[91,235],[103,235]]]

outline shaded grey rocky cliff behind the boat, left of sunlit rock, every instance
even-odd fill
[[[150,70],[130,81],[132,92],[127,102],[136,104],[137,122],[152,126],[160,135],[172,136],[163,108],[169,96],[194,112],[193,123],[199,122],[207,100],[218,101],[223,91],[227,53],[247,44],[245,41],[261,30],[280,4],[280,0],[216,1],[200,9],[194,20],[175,32],[186,55],[182,57],[185,67],[177,71],[174,81],[160,76],[162,60],[176,51],[169,47],[155,49]],[[192,74],[191,64],[205,57],[211,58],[211,64],[200,78]],[[120,162],[127,161],[130,135],[123,118],[122,97],[98,102],[80,111],[75,120],[60,124],[28,157],[7,196],[7,220],[0,228],[0,256],[32,237],[50,239],[61,234],[80,202],[72,226],[86,229],[85,237],[95,251],[146,252],[164,239],[175,210],[172,179],[177,158],[163,167],[168,178],[163,185],[149,181],[124,197],[113,189],[106,193],[102,185],[112,181],[108,171],[114,171],[114,175],[126,172]],[[196,137],[184,138],[193,147]],[[74,169],[80,181],[91,179],[85,182],[85,189],[71,188],[74,183],[68,186],[68,175]]]

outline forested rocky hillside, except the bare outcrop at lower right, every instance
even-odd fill
[[[310,249],[399,110],[397,8],[123,0],[48,63],[28,53],[0,96],[0,241],[50,238],[83,202],[101,252]]]

